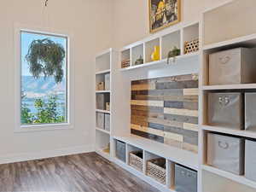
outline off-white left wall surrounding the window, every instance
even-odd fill
[[[2,0],[0,6],[0,163],[18,157],[51,156],[92,149],[94,143],[94,55],[111,44],[111,0]],[[75,119],[73,130],[15,133],[15,23],[71,32],[74,50]],[[59,153],[59,154],[60,154]],[[58,153],[57,153],[58,154]],[[6,159],[9,158],[9,159]],[[21,158],[22,159],[22,158]]]

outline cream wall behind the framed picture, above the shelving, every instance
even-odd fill
[[[182,22],[200,20],[204,9],[227,0],[181,0]],[[148,0],[113,0],[113,46],[121,48],[148,37]],[[172,27],[172,26],[171,26]]]

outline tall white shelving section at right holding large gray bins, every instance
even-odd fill
[[[207,133],[215,132],[220,134],[228,134],[231,137],[245,137],[256,138],[256,132],[234,130],[226,127],[218,127],[208,125],[207,123],[207,110],[208,101],[207,96],[209,92],[218,91],[251,91],[256,90],[255,84],[209,84],[209,55],[218,51],[234,49],[234,48],[255,48],[256,47],[256,35],[249,33],[249,29],[245,30],[241,27],[240,23],[235,24],[235,20],[230,20],[231,15],[236,15],[238,9],[245,9],[244,4],[239,1],[226,3],[223,6],[215,9],[209,9],[203,13],[202,29],[202,51],[201,51],[201,120],[200,120],[200,132],[201,132],[201,172],[202,177],[202,191],[208,192],[207,186],[211,183],[218,186],[215,189],[211,189],[211,192],[220,192],[221,190],[227,191],[255,191],[256,183],[247,179],[246,177],[238,176],[236,174],[225,172],[218,168],[207,165]],[[219,20],[219,16],[222,15],[224,20]],[[239,17],[247,17],[247,14],[239,15]],[[239,29],[234,31],[234,26],[239,26]],[[224,33],[216,35],[216,31],[219,28],[224,30]],[[231,30],[232,29],[232,30]],[[231,30],[231,31],[230,31]],[[228,38],[227,38],[228,37]],[[255,57],[256,59],[256,57]],[[244,149],[243,149],[244,150]],[[207,177],[211,179],[207,179]],[[214,180],[212,180],[214,178]],[[227,180],[225,180],[227,179]],[[242,189],[242,190],[241,190]]]

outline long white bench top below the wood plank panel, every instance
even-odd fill
[[[198,170],[198,154],[180,148],[174,148],[163,143],[157,143],[143,137],[137,137],[135,135],[114,138],[134,147],[142,148],[152,154],[159,155],[167,160],[171,160],[183,166],[188,166],[196,171]]]

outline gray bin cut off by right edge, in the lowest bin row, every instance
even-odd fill
[[[245,177],[256,182],[256,140],[246,140]]]

